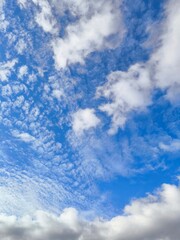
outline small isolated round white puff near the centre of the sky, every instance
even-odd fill
[[[79,109],[73,114],[72,128],[77,135],[81,135],[85,130],[96,127],[100,123],[95,115],[94,109]]]

